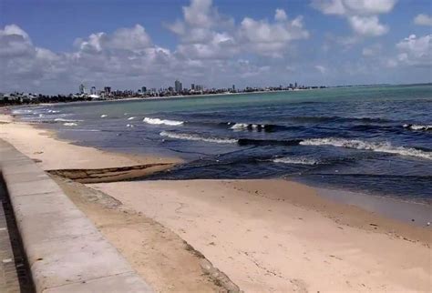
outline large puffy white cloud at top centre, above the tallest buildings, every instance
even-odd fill
[[[211,0],[192,0],[183,7],[182,20],[166,26],[180,37],[176,53],[190,59],[230,59],[242,53],[281,57],[290,42],[309,37],[302,16],[289,20],[278,8],[273,19],[244,17],[235,25]]]

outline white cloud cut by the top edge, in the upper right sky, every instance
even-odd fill
[[[313,0],[311,4],[324,15],[344,16],[357,35],[378,36],[388,32],[377,15],[393,10],[396,0]]]

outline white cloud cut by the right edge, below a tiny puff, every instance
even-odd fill
[[[432,35],[409,35],[396,44],[399,62],[409,66],[432,66]]]

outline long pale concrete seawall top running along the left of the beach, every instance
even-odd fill
[[[60,187],[0,139],[0,170],[36,292],[151,292]]]

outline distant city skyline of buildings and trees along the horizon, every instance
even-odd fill
[[[250,87],[247,86],[242,90],[236,89],[235,85],[227,88],[207,88],[202,85],[191,84],[190,88],[183,87],[180,80],[176,79],[173,86],[148,88],[141,86],[138,90],[112,90],[111,86],[105,86],[98,89],[91,86],[89,90],[84,84],[79,85],[76,94],[46,96],[31,93],[0,93],[1,105],[19,105],[19,104],[36,104],[36,103],[56,103],[56,102],[73,102],[73,101],[91,101],[106,99],[121,99],[129,97],[157,97],[157,96],[194,96],[194,95],[216,95],[216,94],[235,94],[235,93],[252,93],[252,92],[269,92],[269,91],[286,91],[301,90],[311,88],[324,88],[325,86],[299,86],[297,83],[289,86],[267,86],[267,87]]]

